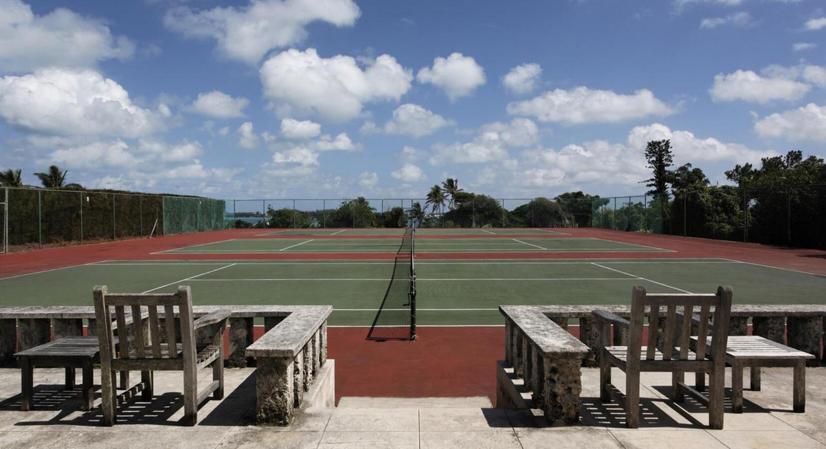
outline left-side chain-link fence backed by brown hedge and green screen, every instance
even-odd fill
[[[4,187],[6,251],[224,229],[224,201],[116,191]]]

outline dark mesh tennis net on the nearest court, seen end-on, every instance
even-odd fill
[[[411,340],[415,331],[415,229],[405,229],[396,252],[390,284],[379,305],[367,338],[370,340]]]

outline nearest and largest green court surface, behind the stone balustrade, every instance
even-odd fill
[[[196,305],[333,305],[331,325],[370,325],[393,261],[98,262],[0,279],[0,305],[92,305],[92,289],[173,292]],[[733,286],[735,304],[823,304],[826,276],[726,259],[420,260],[421,325],[502,324],[499,305],[627,305],[631,287],[712,293]]]

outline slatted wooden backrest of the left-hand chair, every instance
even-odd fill
[[[114,294],[108,292],[107,286],[95,286],[94,300],[102,360],[178,358],[178,335],[183,358],[194,357],[192,291],[189,286],[179,286],[177,293],[142,294]],[[164,313],[163,328],[159,309]],[[112,325],[112,311],[116,327]],[[175,319],[176,312],[178,320]],[[130,319],[131,324],[127,324]],[[180,327],[176,328],[178,325]],[[168,345],[167,351],[161,350],[162,343]]]

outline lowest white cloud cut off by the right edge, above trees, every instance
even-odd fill
[[[776,112],[757,121],[754,130],[763,137],[826,142],[826,106],[809,103],[790,111]]]

